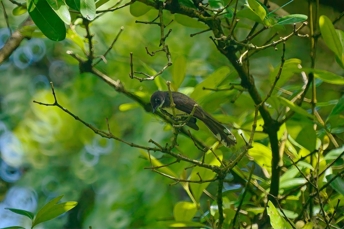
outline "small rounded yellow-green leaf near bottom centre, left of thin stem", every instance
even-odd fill
[[[175,221],[191,221],[196,213],[196,205],[186,201],[177,203],[173,208],[173,216]]]

